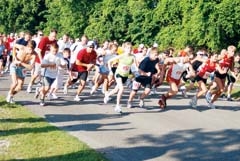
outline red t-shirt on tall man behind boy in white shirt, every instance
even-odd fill
[[[54,43],[57,43],[57,40],[50,41],[48,37],[43,37],[41,39],[41,41],[38,44],[38,48],[41,50],[42,58],[44,57],[46,51],[50,51],[50,45],[54,44]],[[36,63],[40,63],[40,59],[39,59],[38,56],[36,57],[36,61],[35,62]]]

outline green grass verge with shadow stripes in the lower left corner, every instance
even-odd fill
[[[107,161],[77,138],[0,98],[0,160]]]

